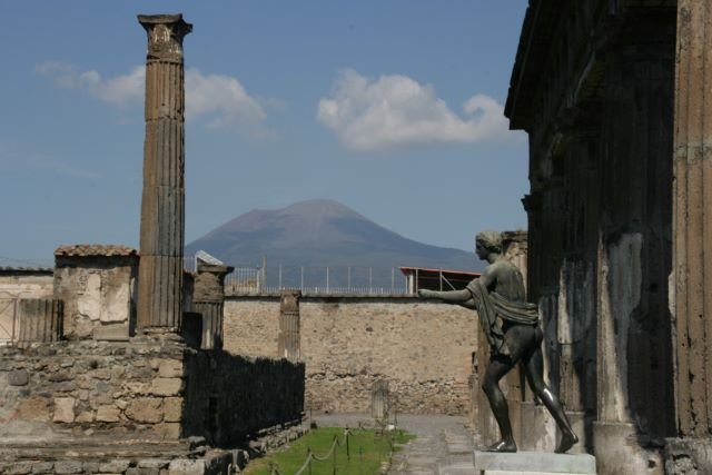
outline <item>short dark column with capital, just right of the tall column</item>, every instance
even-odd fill
[[[200,264],[195,278],[194,303],[196,311],[202,314],[202,349],[222,348],[222,319],[225,309],[225,276],[233,267]]]

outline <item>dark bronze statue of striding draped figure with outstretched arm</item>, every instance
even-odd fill
[[[558,397],[544,383],[542,356],[544,334],[538,326],[536,305],[526,301],[522,273],[503,256],[502,237],[498,232],[477,234],[475,253],[481,259],[488,261],[490,266],[479,278],[472,280],[466,289],[453,291],[421,289],[418,296],[474,308],[479,314],[481,326],[492,350],[482,388],[487,395],[490,407],[502,434],[502,439],[487,451],[516,452],[510,409],[500,389],[500,379],[518,363],[530,387],[558,425],[562,438],[556,453],[563,454],[578,442],[578,437],[571,428]]]

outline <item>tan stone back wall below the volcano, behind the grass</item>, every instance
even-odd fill
[[[367,413],[387,379],[400,413],[471,410],[474,311],[407,297],[303,297],[299,308],[307,409]],[[228,297],[225,311],[226,349],[277,355],[277,297]]]

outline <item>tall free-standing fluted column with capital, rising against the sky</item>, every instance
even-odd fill
[[[181,14],[140,14],[138,21],[148,33],[138,328],[178,331],[185,241],[182,39],[192,26]]]

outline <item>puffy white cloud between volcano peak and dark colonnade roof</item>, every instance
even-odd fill
[[[340,72],[332,96],[319,101],[317,120],[356,151],[478,142],[502,138],[508,129],[503,107],[488,96],[473,96],[463,110],[464,118],[438,99],[432,86],[407,76],[372,80],[349,69]]]

